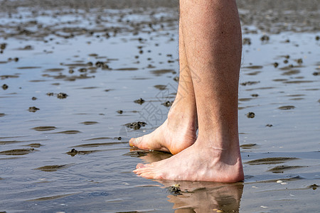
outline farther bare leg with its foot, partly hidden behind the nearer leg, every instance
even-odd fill
[[[139,138],[131,138],[130,146],[176,154],[196,141],[198,129],[196,99],[181,33],[181,27],[179,27],[180,75],[176,99],[171,106],[168,118],[155,131]]]

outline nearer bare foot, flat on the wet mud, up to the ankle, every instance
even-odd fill
[[[143,178],[164,180],[238,182],[244,179],[238,147],[219,150],[203,146],[198,140],[171,158],[138,164],[134,173]]]

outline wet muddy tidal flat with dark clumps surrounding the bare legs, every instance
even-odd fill
[[[0,2],[0,212],[319,209],[316,1],[238,1],[245,181],[235,184],[132,173],[170,157],[128,141],[174,100],[176,1]]]

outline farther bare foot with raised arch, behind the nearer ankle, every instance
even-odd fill
[[[131,138],[130,146],[144,150],[165,151],[172,154],[179,153],[196,141],[196,111],[181,112],[172,109],[168,119],[153,132],[139,137]]]

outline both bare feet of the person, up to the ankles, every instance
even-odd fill
[[[228,150],[207,146],[210,138],[196,137],[196,116],[181,117],[175,106],[168,119],[155,131],[139,138],[131,138],[130,146],[144,150],[174,154],[159,162],[137,165],[134,173],[151,179],[238,182],[243,170],[238,147]],[[185,121],[183,121],[183,119]],[[238,141],[237,141],[238,142]]]

